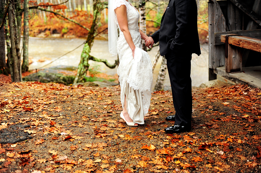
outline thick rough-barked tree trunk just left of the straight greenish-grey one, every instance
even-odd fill
[[[14,3],[14,1],[13,1]],[[22,73],[21,73],[21,55],[20,55],[20,39],[18,39],[18,31],[17,31],[17,18],[15,7],[10,6],[8,9],[8,21],[9,21],[9,28],[10,28],[10,43],[11,43],[11,59],[10,63],[10,73],[12,82],[20,82],[22,80]]]

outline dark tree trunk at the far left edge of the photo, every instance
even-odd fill
[[[4,15],[4,4],[0,1],[0,23],[2,23]],[[4,27],[0,30],[0,73],[8,75],[8,68],[6,66],[6,53],[5,53],[5,32]]]

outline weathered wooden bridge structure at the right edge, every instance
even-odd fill
[[[261,88],[261,0],[209,0],[209,80]]]

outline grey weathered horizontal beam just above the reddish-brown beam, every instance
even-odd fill
[[[221,35],[224,35],[224,34],[237,34],[237,35],[247,36],[247,37],[251,37],[251,38],[261,39],[261,29],[216,32],[215,33],[215,45],[225,44],[224,42],[221,42]]]

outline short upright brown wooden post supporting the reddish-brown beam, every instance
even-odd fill
[[[242,48],[228,45],[228,57],[225,62],[226,72],[242,71]]]

